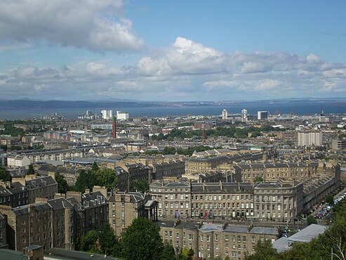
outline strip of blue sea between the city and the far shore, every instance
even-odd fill
[[[248,110],[248,115],[257,115],[258,111],[269,111],[270,114],[295,114],[316,115],[321,114],[346,114],[345,102],[294,102],[294,103],[237,103],[227,105],[194,105],[194,106],[153,106],[145,108],[27,108],[0,110],[0,120],[4,119],[40,119],[44,115],[64,115],[67,119],[76,119],[78,115],[84,115],[86,110],[94,114],[100,114],[101,110],[120,110],[128,112],[130,117],[166,117],[178,115],[221,115],[223,109],[229,114],[240,114],[242,109]]]

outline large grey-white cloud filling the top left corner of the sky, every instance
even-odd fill
[[[121,0],[0,1],[0,39],[48,41],[93,51],[133,51],[144,41],[121,17]]]

